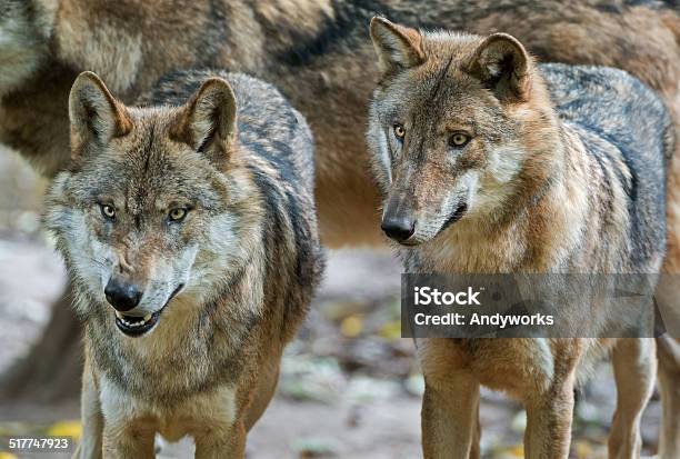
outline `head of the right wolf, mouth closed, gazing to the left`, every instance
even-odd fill
[[[368,139],[384,232],[413,246],[459,220],[502,214],[556,126],[522,44],[504,33],[420,32],[383,18],[370,32],[382,78]]]

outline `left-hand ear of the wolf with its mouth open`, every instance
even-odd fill
[[[106,84],[92,72],[78,76],[69,94],[71,149],[78,156],[89,142],[104,144],[130,132],[132,121],[126,107],[113,99]]]

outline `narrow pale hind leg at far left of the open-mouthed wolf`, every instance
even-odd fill
[[[103,416],[99,392],[92,379],[92,369],[87,358],[82,373],[82,395],[80,399],[82,420],[82,438],[73,455],[73,459],[100,459],[103,435]]]

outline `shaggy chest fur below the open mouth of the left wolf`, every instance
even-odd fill
[[[151,406],[186,403],[197,392],[238,382],[243,369],[243,347],[259,318],[233,320],[224,305],[221,299],[192,311],[177,301],[169,307],[178,311],[134,340],[118,336],[111,315],[103,313],[88,323],[86,345],[118,391]]]

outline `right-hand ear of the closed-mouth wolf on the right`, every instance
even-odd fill
[[[477,48],[470,72],[501,101],[527,100],[531,90],[531,58],[514,37],[493,33]]]

